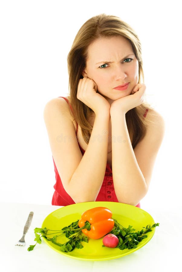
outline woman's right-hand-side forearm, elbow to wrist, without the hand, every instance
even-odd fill
[[[119,202],[137,205],[145,196],[147,186],[138,166],[130,141],[125,114],[111,114],[112,175]],[[119,140],[121,139],[121,140]]]

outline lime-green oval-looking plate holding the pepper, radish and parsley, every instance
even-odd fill
[[[112,218],[116,219],[122,226],[128,228],[128,225],[132,225],[136,231],[140,231],[142,227],[146,227],[147,225],[153,225],[154,219],[151,217],[150,214],[145,212],[144,210],[118,202],[82,202],[77,203],[69,206],[62,207],[60,209],[51,212],[42,223],[42,228],[46,227],[49,229],[61,229],[65,226],[70,225],[72,222],[80,219],[81,214],[91,208],[94,207],[106,207],[112,211]],[[82,242],[83,248],[78,249],[75,248],[71,252],[63,252],[60,251],[59,246],[56,244],[47,241],[47,239],[43,238],[45,243],[48,244],[52,249],[63,254],[65,256],[86,260],[86,261],[103,261],[103,260],[111,260],[123,257],[128,255],[139,248],[143,247],[145,244],[150,241],[152,236],[154,235],[155,228],[152,229],[151,232],[148,232],[148,237],[143,239],[137,246],[137,248],[133,249],[124,249],[120,250],[119,248],[107,248],[102,247],[102,239],[89,239],[89,242]],[[50,236],[49,236],[50,237]],[[65,243],[67,238],[62,235],[57,238],[57,242]]]

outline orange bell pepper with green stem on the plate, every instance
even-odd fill
[[[92,239],[99,239],[109,233],[114,227],[114,220],[111,218],[112,212],[108,208],[96,207],[83,212],[78,222],[79,227],[83,227],[85,222],[91,224],[90,230],[82,229],[82,232]]]

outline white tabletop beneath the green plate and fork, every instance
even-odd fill
[[[37,271],[161,271],[171,268],[180,271],[178,262],[181,259],[181,209],[175,212],[146,210],[160,223],[156,227],[153,238],[142,248],[127,256],[109,261],[82,261],[73,259],[51,249],[44,241],[37,244],[33,251],[27,251],[34,244],[34,228],[41,227],[45,217],[60,206],[2,203],[1,209],[1,271],[37,272]],[[21,238],[24,224],[29,212],[34,216],[28,233],[25,236],[26,246],[18,247],[15,243]],[[175,270],[175,268],[177,268]]]

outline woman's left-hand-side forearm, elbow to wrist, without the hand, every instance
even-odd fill
[[[110,114],[96,115],[86,151],[75,170],[68,193],[75,202],[95,201],[106,171]]]

